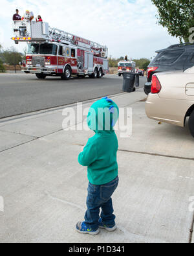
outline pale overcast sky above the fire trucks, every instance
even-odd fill
[[[26,43],[10,40],[12,16],[19,9],[41,15],[50,27],[96,41],[109,48],[109,56],[151,58],[158,49],[178,43],[178,38],[156,24],[156,8],[151,0],[0,0],[0,43],[20,52]]]

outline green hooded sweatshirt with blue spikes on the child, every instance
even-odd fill
[[[87,177],[93,185],[109,183],[118,176],[118,140],[113,129],[118,114],[118,106],[107,97],[97,100],[89,109],[87,124],[95,135],[78,156],[78,162],[88,167]]]

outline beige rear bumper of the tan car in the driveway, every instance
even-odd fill
[[[188,104],[182,100],[160,99],[158,94],[149,94],[147,97],[146,115],[156,121],[184,127],[184,117],[187,110]]]

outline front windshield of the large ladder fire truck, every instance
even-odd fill
[[[58,46],[53,43],[29,43],[27,54],[57,54]]]

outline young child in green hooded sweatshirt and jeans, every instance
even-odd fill
[[[87,124],[95,135],[78,156],[80,165],[88,167],[89,180],[85,221],[76,224],[80,233],[97,235],[99,227],[107,231],[116,229],[111,196],[118,186],[118,140],[113,129],[117,121],[118,106],[113,100],[105,97],[92,104]],[[99,216],[100,208],[102,212]]]

